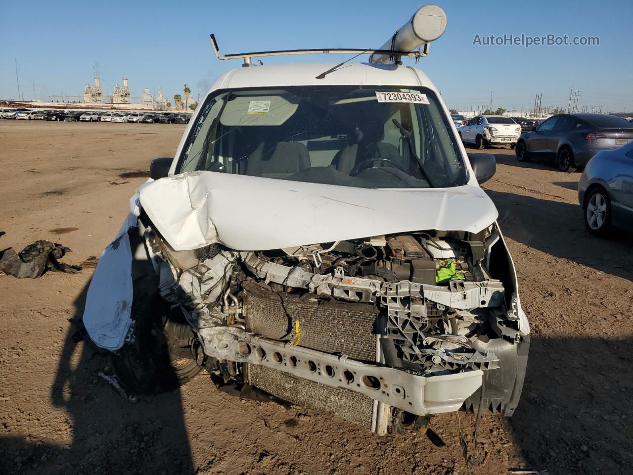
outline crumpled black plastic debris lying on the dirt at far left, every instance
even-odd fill
[[[0,251],[0,273],[17,277],[18,279],[27,277],[36,279],[47,270],[75,274],[75,272],[79,272],[82,269],[79,265],[68,265],[59,262],[67,252],[70,252],[70,248],[42,240],[28,244],[19,253],[16,253],[13,248],[7,248]]]

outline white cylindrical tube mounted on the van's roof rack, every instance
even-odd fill
[[[379,49],[392,51],[413,51],[425,43],[441,37],[446,30],[446,13],[437,5],[425,5],[415,12]],[[389,54],[372,54],[370,63],[388,63]]]

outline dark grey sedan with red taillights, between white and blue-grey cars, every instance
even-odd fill
[[[555,162],[563,172],[575,172],[601,150],[633,141],[633,125],[608,114],[561,114],[523,134],[517,142],[517,159]]]

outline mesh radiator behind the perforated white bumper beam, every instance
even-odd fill
[[[376,361],[374,326],[377,310],[358,303],[320,303],[306,296],[275,293],[255,282],[245,282],[246,329],[268,338],[296,341],[299,346],[326,353],[342,353],[365,362]],[[249,365],[250,384],[292,404],[337,415],[372,429],[374,400],[345,388],[332,388],[283,371]]]

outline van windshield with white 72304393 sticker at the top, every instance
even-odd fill
[[[423,87],[221,92],[185,144],[179,172],[191,170],[363,188],[467,181],[448,119]]]

